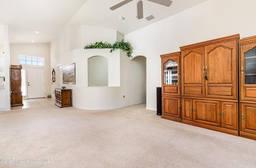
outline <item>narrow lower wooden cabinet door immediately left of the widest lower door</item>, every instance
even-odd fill
[[[193,99],[182,98],[182,119],[193,120]]]

